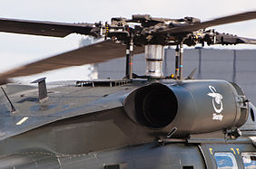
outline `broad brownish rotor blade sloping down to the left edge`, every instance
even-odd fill
[[[142,52],[143,47],[137,46],[133,53],[138,54]],[[107,40],[6,71],[0,74],[0,80],[5,81],[9,78],[28,76],[69,66],[81,66],[84,64],[109,61],[115,58],[122,58],[123,56],[125,56],[125,47],[123,44]]]

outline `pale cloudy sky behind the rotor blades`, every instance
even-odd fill
[[[151,14],[154,17],[182,18],[193,16],[202,21],[217,17],[256,10],[255,0],[0,0],[0,17],[53,21],[64,23],[95,23],[110,21],[112,17],[131,18],[132,14]],[[218,32],[237,34],[256,39],[256,20],[212,27]],[[38,61],[60,52],[79,47],[82,35],[71,34],[64,38],[0,33],[0,72],[25,63]],[[211,47],[212,48],[212,47]],[[222,46],[215,46],[221,48]],[[252,45],[237,45],[228,49],[256,49]],[[226,48],[227,49],[227,48]],[[32,77],[17,79],[28,82],[47,77],[53,80],[85,80],[89,66],[54,70]]]

